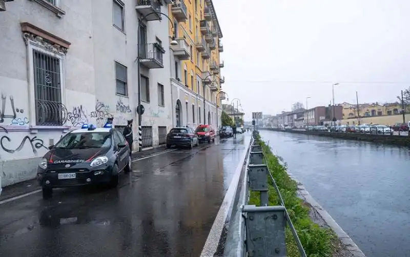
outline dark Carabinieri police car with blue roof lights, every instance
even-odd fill
[[[85,124],[49,146],[37,169],[43,197],[53,188],[107,183],[118,185],[118,173],[131,171],[130,147],[124,136],[106,124],[96,128]]]

